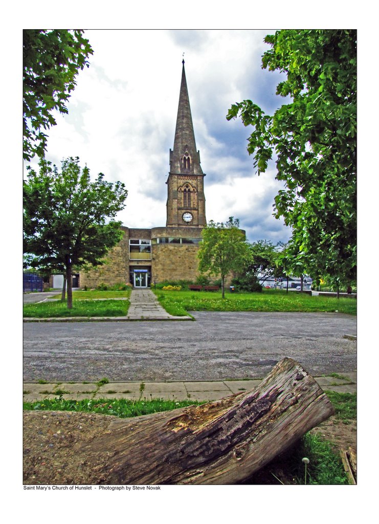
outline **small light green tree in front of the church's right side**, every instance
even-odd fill
[[[198,251],[199,271],[221,276],[222,298],[225,298],[225,277],[231,271],[240,271],[248,254],[244,232],[239,220],[229,217],[228,222],[211,220],[202,231]]]

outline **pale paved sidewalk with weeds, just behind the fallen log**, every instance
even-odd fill
[[[314,377],[320,387],[341,393],[356,392],[356,372],[340,373],[341,378]],[[119,399],[136,400],[141,398],[162,398],[174,400],[219,400],[241,391],[253,389],[260,383],[257,380],[214,380],[177,382],[110,382],[98,386],[95,383],[24,383],[24,402],[53,399],[62,395],[67,400]],[[141,384],[144,385],[140,394]]]

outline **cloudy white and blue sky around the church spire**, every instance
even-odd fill
[[[280,74],[261,69],[263,42],[275,30],[87,30],[94,54],[77,77],[68,115],[48,132],[47,159],[79,156],[128,189],[118,219],[129,227],[165,225],[165,184],[173,147],[184,53],[188,93],[205,178],[207,220],[240,219],[249,241],[286,242],[272,216],[280,188],[275,165],[258,177],[246,150],[249,128],[228,122],[244,99],[271,113]]]

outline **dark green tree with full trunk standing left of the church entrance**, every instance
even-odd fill
[[[36,173],[30,166],[24,182],[24,252],[34,266],[65,268],[67,307],[72,308],[72,268],[104,264],[108,250],[122,237],[121,222],[106,219],[124,209],[127,190],[99,173],[90,181],[79,158],[61,162],[61,172],[41,159]]]

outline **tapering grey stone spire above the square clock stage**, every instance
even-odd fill
[[[182,82],[180,86],[179,106],[177,108],[174,149],[171,151],[171,172],[181,172],[181,159],[190,156],[194,174],[203,174],[200,168],[200,159],[196,150],[195,133],[192,124],[190,99],[188,97],[187,81],[185,78],[184,60],[182,68]],[[188,171],[186,171],[188,172]]]

